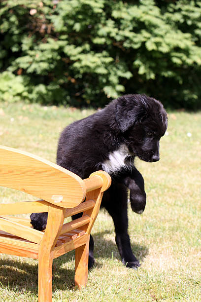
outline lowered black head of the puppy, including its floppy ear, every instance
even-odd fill
[[[158,161],[159,141],[167,130],[167,113],[154,98],[129,94],[116,100],[116,121],[131,154]]]

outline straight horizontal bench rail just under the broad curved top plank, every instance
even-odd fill
[[[0,204],[0,215],[43,213],[47,211],[48,202],[44,200]]]

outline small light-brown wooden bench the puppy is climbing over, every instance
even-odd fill
[[[90,232],[110,184],[104,171],[82,180],[48,160],[0,146],[0,186],[40,199],[0,204],[0,253],[38,259],[39,302],[52,301],[53,259],[73,249],[75,285],[86,286]],[[10,216],[42,212],[48,212],[44,231],[33,229],[30,219]],[[81,218],[64,224],[65,218],[81,212]]]

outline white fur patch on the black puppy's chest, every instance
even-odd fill
[[[102,163],[102,169],[107,173],[115,173],[121,168],[127,166],[125,158],[129,155],[129,149],[125,145],[121,145],[119,149],[109,153],[109,159]]]

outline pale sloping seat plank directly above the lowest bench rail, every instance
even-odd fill
[[[40,243],[44,233],[31,227],[22,226],[16,222],[11,222],[7,219],[0,218],[0,229],[34,243]]]

